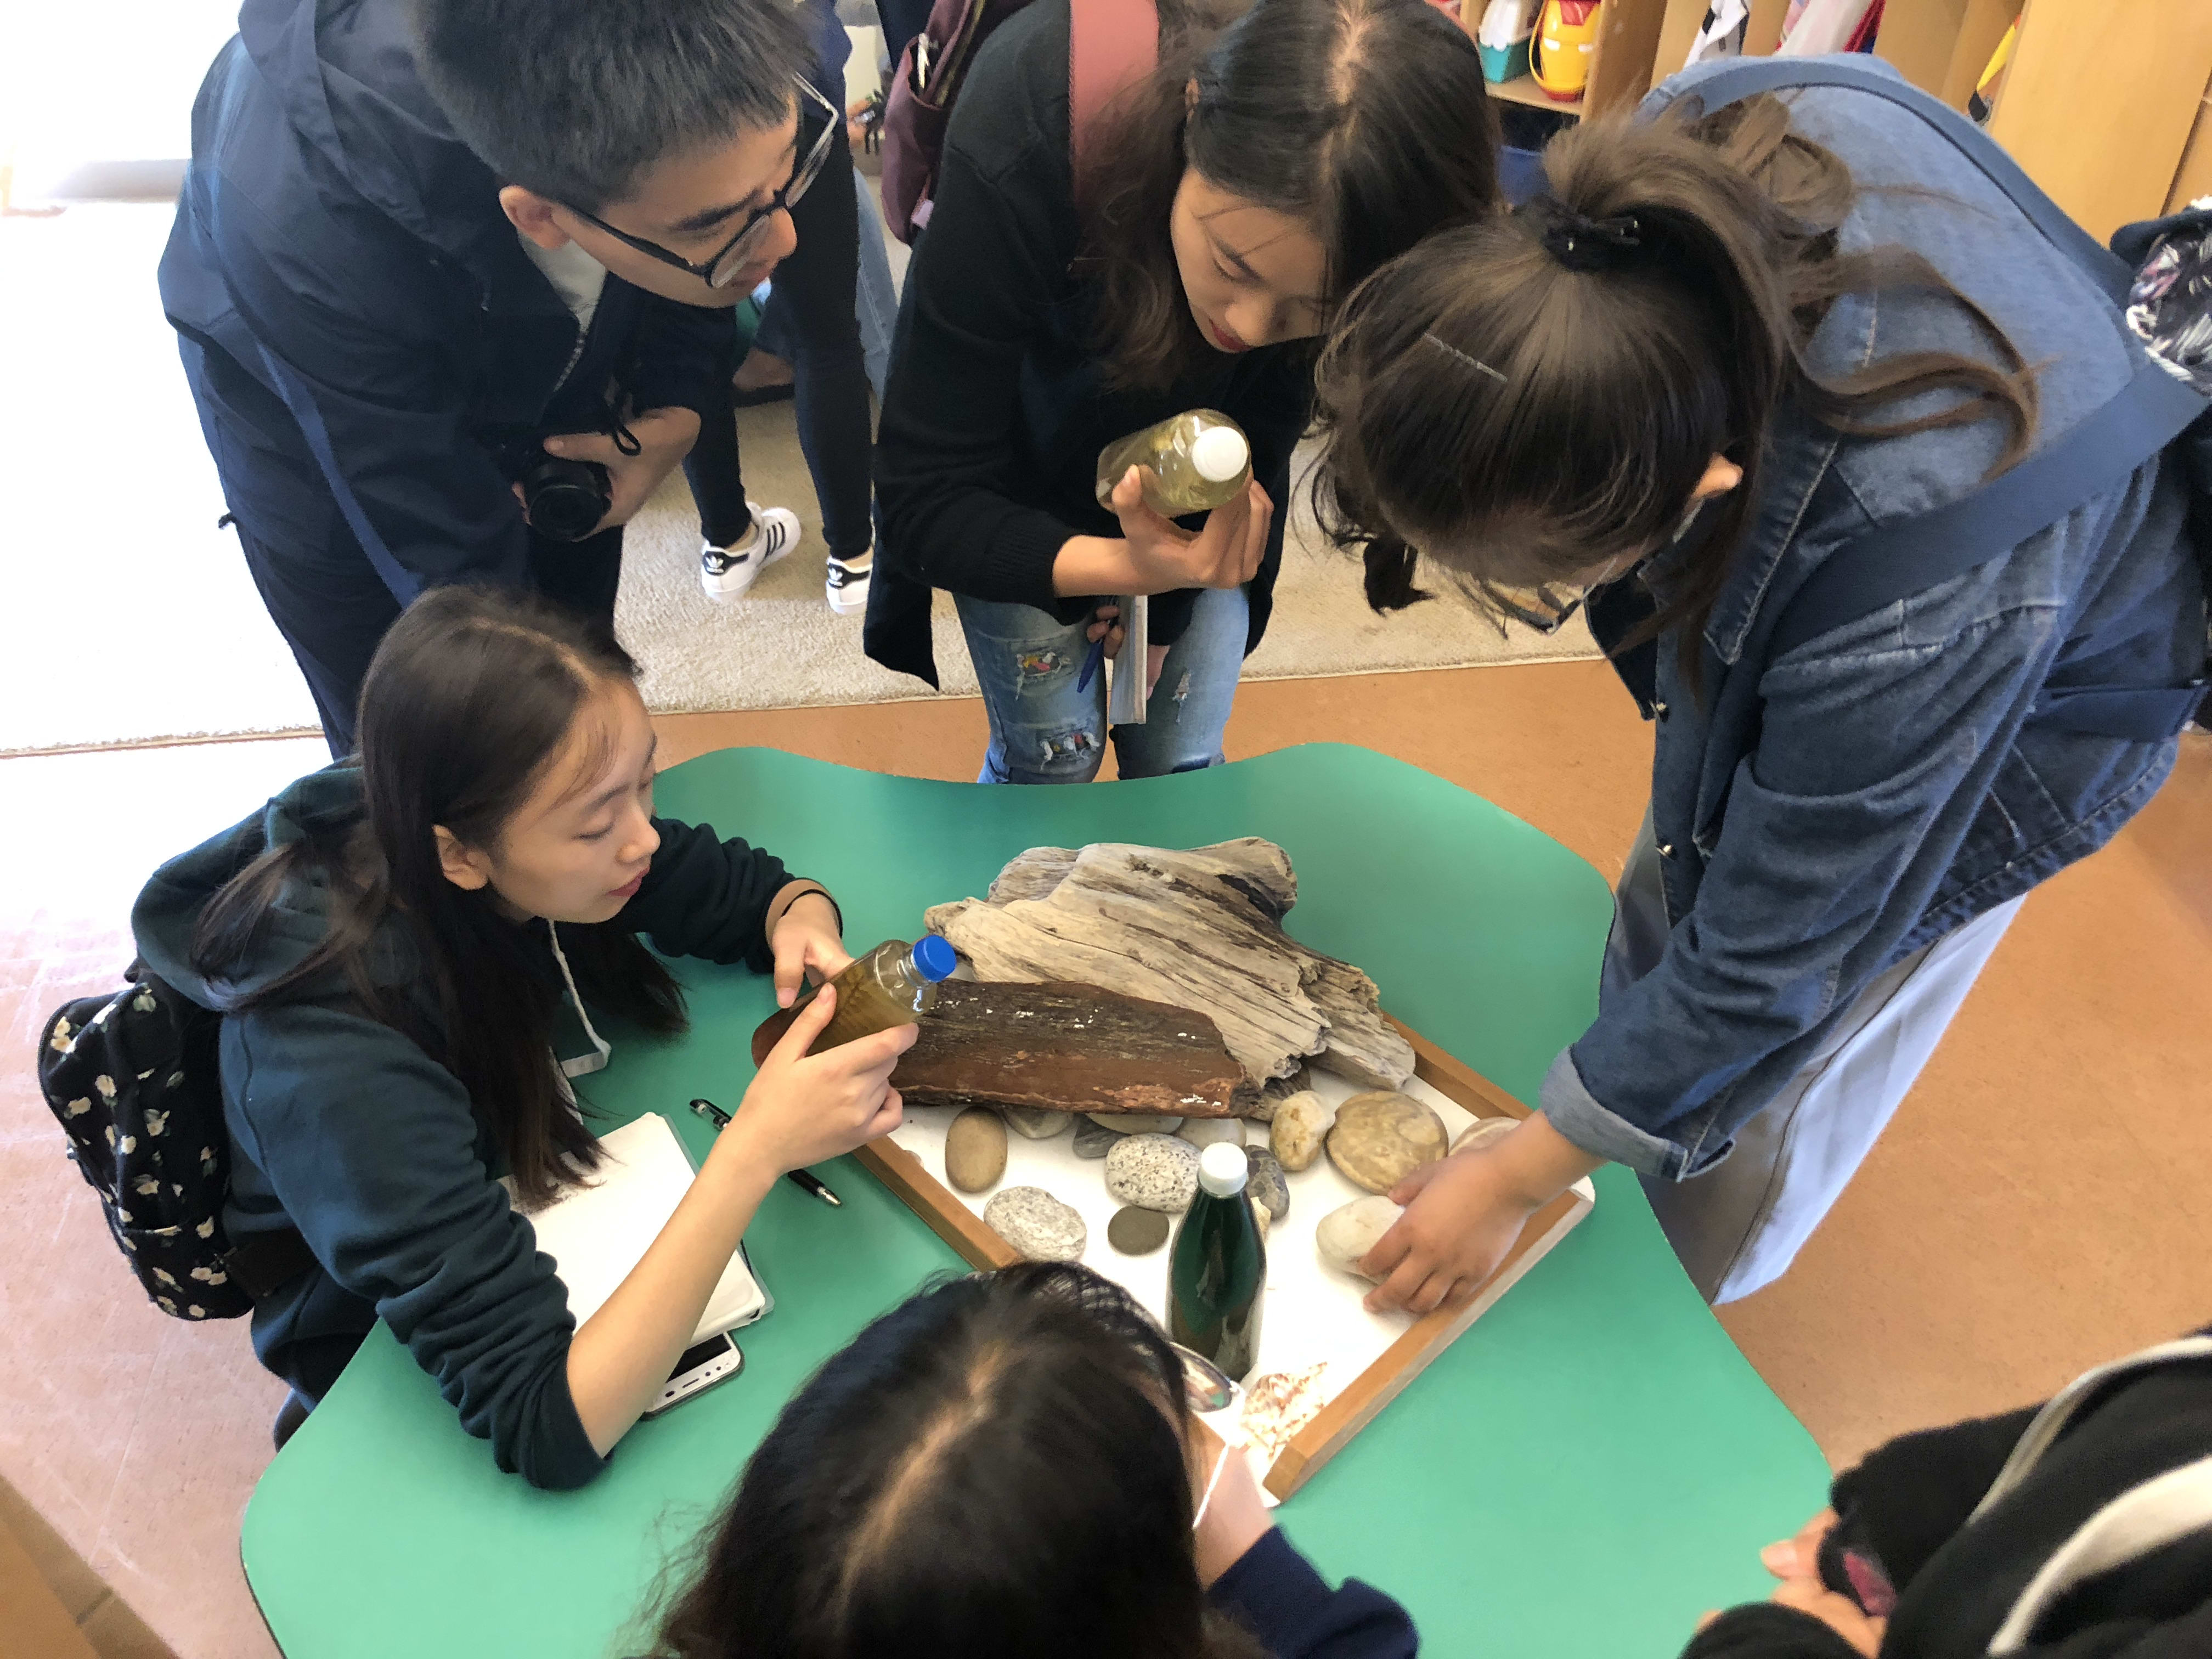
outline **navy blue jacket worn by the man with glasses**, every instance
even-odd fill
[[[728,312],[608,276],[586,354],[522,252],[500,179],[453,135],[400,0],[246,0],[192,106],[192,166],[161,257],[223,491],[263,540],[336,498],[398,599],[526,582],[526,526],[491,445],[637,409],[708,409]],[[314,549],[319,551],[319,549]]]

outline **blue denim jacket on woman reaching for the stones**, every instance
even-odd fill
[[[1646,111],[1697,82],[1677,75]],[[1975,299],[2037,369],[2037,442],[2119,389],[2139,361],[2119,312],[1949,139],[1867,93],[1787,97],[1798,131],[1863,190],[1843,250],[1918,250]],[[1997,361],[1955,303],[1896,290],[1840,299],[1809,358],[1836,376],[1913,349]],[[1710,1168],[1874,975],[2095,852],[2166,781],[2172,741],[2031,719],[2046,684],[2170,686],[2203,661],[2183,489],[2157,460],[2000,560],[1770,650],[1838,544],[1966,493],[2002,445],[1997,420],[1843,438],[1781,414],[1745,544],[1697,639],[1699,686],[1672,633],[1646,657],[1672,931],[1659,964],[1544,1077],[1546,1117],[1584,1150],[1666,1179]],[[1663,593],[1688,544],[1639,580]]]

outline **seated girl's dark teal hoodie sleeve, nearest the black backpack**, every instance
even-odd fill
[[[599,1473],[568,1396],[568,1292],[478,1157],[453,1073],[332,1006],[223,1029],[232,1137],[323,1270],[376,1307],[500,1469],[553,1489]]]

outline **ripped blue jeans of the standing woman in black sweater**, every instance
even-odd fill
[[[1106,670],[1075,690],[1091,641],[1029,604],[953,595],[991,717],[978,783],[1091,783],[1106,757]],[[1144,726],[1113,728],[1124,779],[1221,765],[1221,728],[1243,672],[1250,611],[1243,588],[1208,588],[1190,628],[1168,648]]]

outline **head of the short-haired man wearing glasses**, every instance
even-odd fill
[[[737,305],[843,119],[783,0],[411,0],[416,62],[529,241],[686,305]]]

